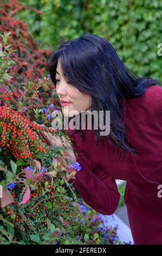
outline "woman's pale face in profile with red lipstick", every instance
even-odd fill
[[[86,111],[90,108],[90,96],[81,93],[77,88],[64,80],[60,60],[57,62],[55,78],[58,80],[56,81],[56,93],[59,95],[60,102],[69,102],[67,105],[61,102],[63,115],[73,117],[73,114],[77,114],[76,111],[81,113],[81,111]]]

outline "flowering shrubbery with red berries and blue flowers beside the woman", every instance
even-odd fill
[[[50,128],[51,113],[59,106],[44,70],[46,54],[23,22],[8,17],[12,5],[1,5],[0,11],[0,243],[121,243],[117,227],[105,227],[102,217],[76,197],[69,180],[81,172],[79,163],[74,168],[66,161],[66,148],[50,147],[41,137],[45,129],[70,142],[63,131]]]

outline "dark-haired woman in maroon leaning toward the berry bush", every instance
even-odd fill
[[[100,129],[67,130],[77,153],[67,144],[69,160],[81,166],[70,182],[89,206],[112,215],[120,199],[115,179],[126,180],[125,203],[134,243],[162,244],[160,82],[134,75],[113,46],[93,34],[64,42],[50,54],[48,70],[69,120],[73,111],[79,116],[87,109],[110,111],[107,136],[101,136]],[[51,145],[61,145],[59,138],[43,136]]]

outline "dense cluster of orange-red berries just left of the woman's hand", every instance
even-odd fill
[[[0,120],[2,120],[0,146],[5,149],[5,155],[10,151],[17,160],[33,159],[34,155],[31,148],[34,151],[47,153],[49,146],[44,143],[44,139],[40,139],[40,131],[46,130],[54,134],[55,130],[34,124],[25,115],[8,107],[7,103],[0,106]]]

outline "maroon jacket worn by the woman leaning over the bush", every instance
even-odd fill
[[[89,206],[112,215],[120,199],[115,179],[126,180],[124,198],[134,243],[162,244],[162,87],[154,85],[127,100],[125,124],[137,155],[101,139],[96,145],[93,130],[83,130],[83,142],[76,132],[71,136],[72,130],[66,130],[82,167],[70,182]]]

